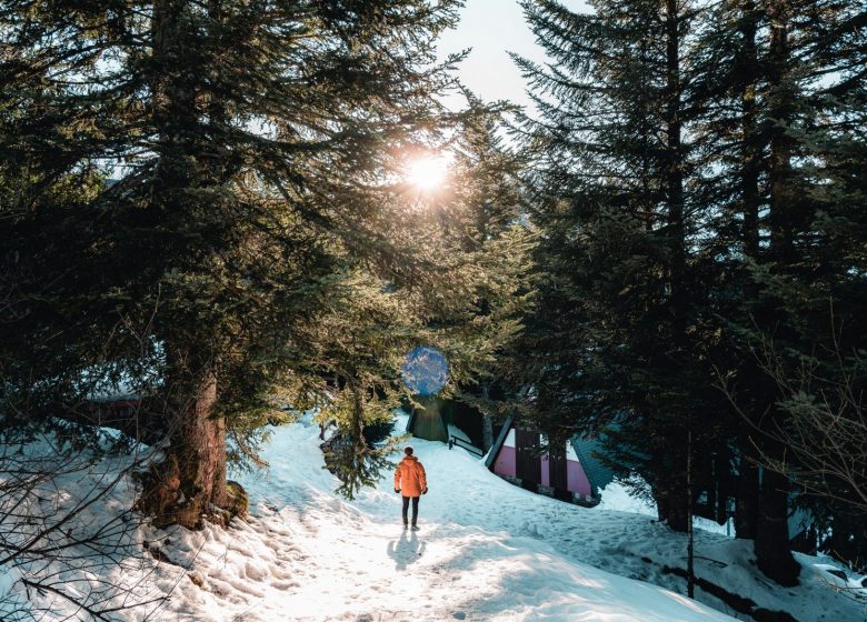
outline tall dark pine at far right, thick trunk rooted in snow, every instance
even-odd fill
[[[711,228],[721,258],[715,298],[727,339],[714,358],[729,374],[729,392],[737,387],[743,415],[730,437],[739,454],[738,534],[756,540],[759,568],[791,584],[798,566],[787,552],[788,475],[765,469],[759,480],[757,466],[793,455],[775,432],[789,425],[791,413],[780,408],[780,387],[760,350],[773,339],[791,351],[834,351],[829,309],[839,303],[848,318],[861,299],[847,275],[857,261],[837,237],[844,230],[849,242],[863,235],[858,210],[824,197],[829,188],[851,188],[828,173],[838,148],[848,159],[858,142],[851,116],[863,107],[856,93],[864,92],[864,10],[744,0],[716,11],[699,48],[697,90],[706,119],[699,142],[715,171],[705,182],[720,205]],[[835,141],[819,138],[827,132]],[[830,234],[829,213],[840,219]],[[835,281],[849,284],[837,289]],[[849,347],[861,340],[847,331]]]

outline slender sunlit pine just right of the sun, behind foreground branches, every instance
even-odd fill
[[[494,443],[495,420],[516,407],[512,348],[520,319],[532,307],[527,263],[536,233],[526,222],[519,179],[524,162],[506,147],[504,129],[501,119],[491,116],[465,128],[452,147],[452,190],[444,197],[462,214],[451,252],[458,259],[458,280],[469,285],[462,312],[449,321],[450,342],[468,371],[455,387],[456,399],[481,412],[485,451]]]

